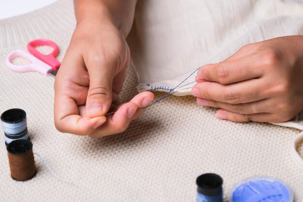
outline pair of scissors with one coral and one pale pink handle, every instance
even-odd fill
[[[37,46],[50,46],[54,49],[48,55],[44,55],[35,48]],[[10,54],[8,54],[8,56],[6,57],[6,65],[11,70],[15,72],[35,71],[43,75],[57,75],[61,63],[56,59],[59,53],[59,48],[57,44],[55,44],[55,42],[48,39],[37,39],[28,43],[27,48],[32,55],[20,49],[14,50]],[[16,57],[24,58],[28,60],[30,64],[15,65],[12,63],[12,61]]]

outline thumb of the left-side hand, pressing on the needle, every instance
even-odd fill
[[[86,115],[88,117],[103,116],[111,106],[115,68],[112,64],[96,61],[87,69],[90,87],[86,100]]]

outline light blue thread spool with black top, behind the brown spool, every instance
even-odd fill
[[[26,112],[23,109],[8,109],[1,114],[6,146],[14,140],[30,140]]]

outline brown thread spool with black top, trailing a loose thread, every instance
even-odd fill
[[[15,140],[7,145],[11,176],[14,180],[25,181],[33,178],[37,171],[32,143],[29,140]]]

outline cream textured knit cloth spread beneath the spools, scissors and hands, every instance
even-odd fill
[[[10,51],[26,49],[37,38],[55,41],[61,61],[74,27],[71,0],[0,21],[0,111],[24,109],[34,152],[58,175],[77,184],[55,178],[38,156],[33,179],[12,180],[2,138],[0,202],[195,202],[195,181],[205,172],[222,176],[225,201],[240,180],[269,175],[291,187],[295,202],[303,202],[303,171],[289,154],[300,130],[220,121],[215,109],[198,107],[192,96],[169,96],[114,136],[91,139],[58,132],[53,124],[54,78],[13,72],[4,61]],[[137,84],[130,68],[122,101],[137,93]],[[303,156],[303,146],[297,150]]]

